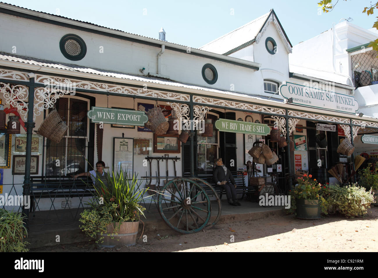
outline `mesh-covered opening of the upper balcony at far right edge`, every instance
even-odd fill
[[[363,51],[352,55],[351,58],[352,79],[356,88],[378,84],[377,51]]]

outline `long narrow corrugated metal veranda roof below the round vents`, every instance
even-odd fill
[[[187,89],[195,89],[195,90],[202,90],[202,91],[207,91],[207,92],[215,92],[215,93],[223,93],[225,95],[228,95],[229,97],[233,96],[248,96],[248,98],[252,99],[265,99],[264,96],[256,97],[252,96],[246,93],[237,93],[237,92],[229,92],[226,90],[219,90],[219,89],[214,89],[214,88],[209,88],[209,87],[202,87],[198,85],[193,85],[193,84],[185,84],[181,82],[176,82],[172,80],[167,80],[167,79],[160,79],[160,78],[154,78],[154,77],[148,77],[148,76],[138,76],[138,75],[130,75],[130,74],[125,74],[121,72],[115,72],[115,71],[105,71],[101,69],[95,69],[95,68],[88,68],[88,67],[82,67],[79,65],[73,65],[73,64],[57,64],[56,62],[52,61],[47,61],[47,60],[42,60],[42,59],[34,59],[31,57],[26,57],[26,56],[19,56],[19,55],[12,55],[9,56],[9,53],[0,53],[0,60],[5,60],[5,61],[15,61],[15,62],[20,62],[20,63],[25,63],[25,64],[31,64],[31,65],[39,65],[40,67],[49,67],[49,68],[57,68],[61,70],[67,70],[67,71],[76,71],[76,72],[82,72],[82,73],[90,73],[94,75],[100,75],[100,76],[110,76],[114,78],[119,78],[119,79],[127,79],[127,80],[135,80],[135,81],[141,81],[141,82],[150,82],[150,83],[155,83],[155,84],[161,84],[161,85],[169,85],[169,86],[175,86],[175,87],[182,87],[182,88],[187,88]],[[106,82],[106,81],[104,81]],[[280,103],[280,101],[275,101],[269,99],[269,101],[272,101],[273,103]]]

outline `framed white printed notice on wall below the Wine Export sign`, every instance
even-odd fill
[[[126,171],[133,175],[134,167],[133,138],[113,137],[114,172]]]

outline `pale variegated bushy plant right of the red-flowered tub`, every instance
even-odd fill
[[[324,191],[325,198],[333,210],[338,210],[347,217],[364,216],[367,207],[375,203],[372,190],[352,183],[349,186],[330,185]]]

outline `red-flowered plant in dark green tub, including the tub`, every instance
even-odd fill
[[[319,219],[322,210],[326,213],[326,201],[321,195],[322,185],[312,175],[304,174],[297,179],[297,185],[290,191],[292,206],[296,206],[298,218]],[[293,202],[294,201],[294,202]]]

